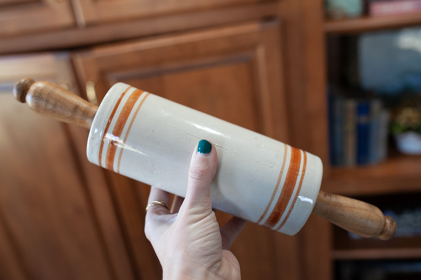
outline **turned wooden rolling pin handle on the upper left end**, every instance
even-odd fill
[[[20,79],[13,88],[15,98],[43,116],[91,129],[97,106],[51,82]]]

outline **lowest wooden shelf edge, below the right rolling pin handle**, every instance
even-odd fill
[[[334,250],[332,258],[334,260],[417,259],[421,258],[421,248]]]

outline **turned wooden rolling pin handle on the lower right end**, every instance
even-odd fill
[[[388,240],[396,232],[395,220],[376,206],[341,195],[320,191],[312,213],[362,237]]]

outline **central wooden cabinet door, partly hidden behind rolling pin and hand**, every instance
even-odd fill
[[[227,26],[93,48],[76,54],[75,65],[81,81],[95,82],[99,101],[115,82],[125,82],[288,143],[280,34],[277,22]],[[149,188],[110,177],[142,267],[144,255],[154,254],[143,235]],[[221,224],[229,218],[217,216]],[[299,245],[296,236],[248,223],[232,251],[242,279],[298,279]],[[160,279],[160,270],[151,277]]]

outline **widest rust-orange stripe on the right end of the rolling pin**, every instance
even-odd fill
[[[300,172],[301,163],[301,152],[297,148],[291,147],[291,159],[290,166],[288,167],[287,176],[285,178],[284,185],[281,190],[281,194],[278,197],[278,201],[275,204],[272,213],[270,213],[264,226],[274,227],[277,222],[281,219],[282,214],[287,208],[288,202],[290,201],[291,195],[294,191],[295,184],[297,182],[298,173]]]

